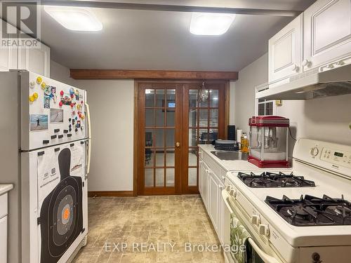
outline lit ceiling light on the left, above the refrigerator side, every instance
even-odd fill
[[[71,6],[44,6],[46,13],[63,27],[73,31],[96,32],[102,30],[102,23],[96,15],[86,9]]]

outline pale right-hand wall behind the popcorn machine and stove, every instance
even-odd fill
[[[255,87],[268,81],[267,71],[266,53],[242,69],[239,81],[231,85],[234,101],[230,102],[230,121],[238,128],[249,131],[249,117],[255,114]],[[351,130],[348,127],[351,123],[351,95],[315,100],[284,100],[283,106],[277,107],[277,115],[291,120],[296,137],[351,145]]]

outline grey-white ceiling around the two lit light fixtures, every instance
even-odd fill
[[[140,1],[124,1],[140,2]],[[147,1],[213,6],[214,1]],[[314,0],[216,1],[216,6],[305,10]],[[51,58],[75,69],[239,71],[267,52],[267,41],[293,18],[237,15],[222,36],[189,32],[191,13],[92,8],[101,32],[72,32],[41,12]]]

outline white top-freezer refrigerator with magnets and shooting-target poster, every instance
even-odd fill
[[[0,72],[0,86],[8,262],[69,262],[88,232],[86,91],[27,71]]]

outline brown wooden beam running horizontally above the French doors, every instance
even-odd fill
[[[72,79],[197,79],[237,81],[238,72],[178,70],[69,69]]]

